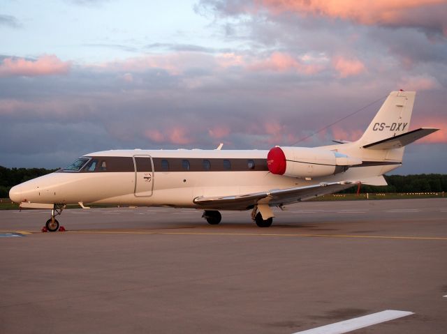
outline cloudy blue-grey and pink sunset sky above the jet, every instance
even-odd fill
[[[446,17],[447,0],[2,0],[0,165],[356,140],[404,89],[410,128],[441,130],[394,174],[447,173]]]

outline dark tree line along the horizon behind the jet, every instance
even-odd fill
[[[55,171],[57,169],[0,166],[0,197],[7,198],[14,185]],[[385,179],[388,185],[362,185],[360,192],[447,192],[447,174],[385,175]],[[349,188],[343,192],[357,192],[357,188]]]

